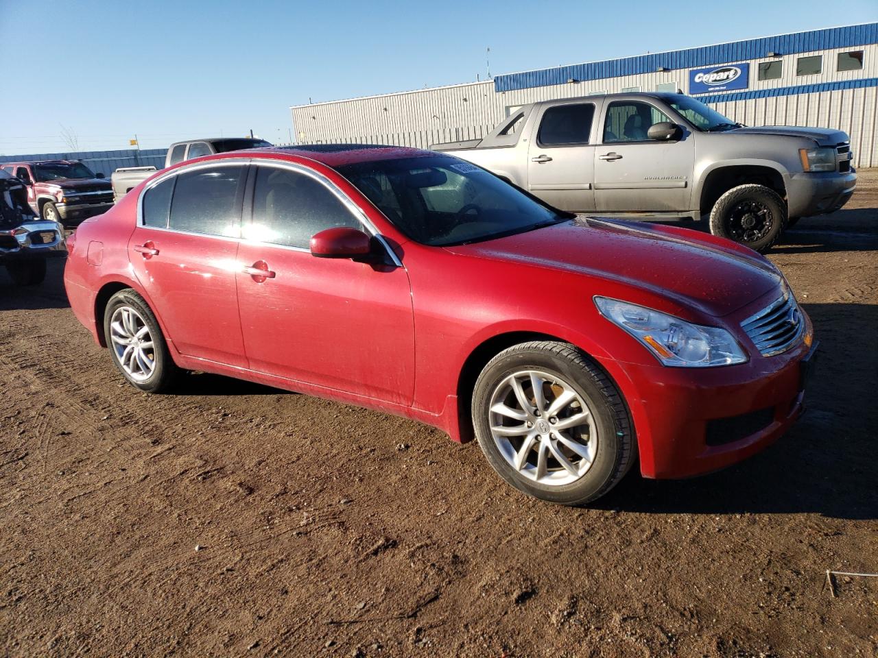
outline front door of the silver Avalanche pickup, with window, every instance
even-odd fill
[[[651,125],[671,121],[641,100],[607,104],[601,146],[595,149],[594,201],[598,211],[686,211],[692,196],[694,137],[648,139]]]

